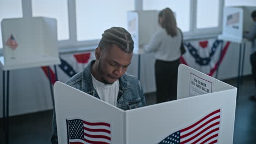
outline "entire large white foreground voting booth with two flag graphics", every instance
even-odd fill
[[[232,143],[236,91],[181,64],[178,100],[123,111],[56,82],[59,143]]]

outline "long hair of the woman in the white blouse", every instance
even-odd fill
[[[162,22],[160,22],[160,17]],[[158,15],[158,22],[162,28],[165,28],[168,35],[174,37],[177,35],[177,23],[174,14],[170,8],[165,8]]]

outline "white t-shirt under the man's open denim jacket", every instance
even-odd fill
[[[92,84],[98,93],[98,96],[101,100],[106,101],[107,103],[117,106],[117,97],[119,92],[119,81],[115,81],[112,84],[105,84],[95,79],[92,76]]]

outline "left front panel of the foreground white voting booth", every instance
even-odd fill
[[[59,81],[57,81],[54,85],[54,97],[59,143],[72,142],[72,140],[68,139],[68,135],[72,132],[68,132],[67,119],[81,119],[90,123],[108,123],[110,124],[110,127],[96,125],[96,128],[99,127],[98,129],[106,129],[111,131],[110,134],[98,134],[111,137],[111,141],[107,139],[99,140],[108,143],[124,143],[125,113],[123,110],[109,105],[104,101],[92,97],[91,95],[79,91],[73,87],[69,87]],[[94,129],[92,125],[87,125],[85,127]],[[88,131],[88,133],[95,135],[90,131]],[[88,137],[87,139],[89,141],[97,140]],[[73,142],[75,142],[75,140],[73,140]]]

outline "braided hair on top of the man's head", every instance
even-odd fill
[[[131,34],[122,27],[112,27],[104,31],[98,47],[106,49],[116,44],[126,53],[133,51],[133,40]]]

